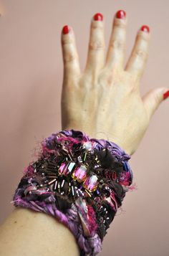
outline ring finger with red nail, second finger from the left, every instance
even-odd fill
[[[96,74],[105,65],[104,26],[103,15],[95,14],[90,24],[90,42],[84,72]]]

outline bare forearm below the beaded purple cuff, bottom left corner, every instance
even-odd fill
[[[0,255],[79,255],[77,242],[64,224],[42,212],[16,208],[0,227]]]

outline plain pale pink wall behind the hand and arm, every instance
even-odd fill
[[[137,29],[151,31],[150,54],[141,93],[168,87],[169,1],[15,0],[0,3],[0,196],[1,222],[13,209],[12,194],[37,142],[61,128],[62,27],[73,27],[82,70],[87,59],[90,21],[105,17],[108,45],[118,9],[128,16],[126,61]],[[169,255],[169,99],[153,116],[130,159],[137,191],[129,192],[103,242],[100,255]]]

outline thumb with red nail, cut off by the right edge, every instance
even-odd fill
[[[143,104],[145,105],[150,118],[155,113],[155,110],[157,110],[160,103],[162,103],[167,96],[169,96],[169,90],[166,87],[151,89],[148,93],[143,95]]]

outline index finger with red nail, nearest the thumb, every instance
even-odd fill
[[[143,25],[137,32],[135,45],[130,54],[125,70],[131,72],[135,77],[140,78],[145,70],[148,60],[148,48],[150,43],[150,29]]]

